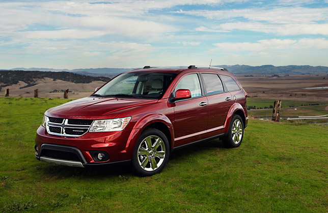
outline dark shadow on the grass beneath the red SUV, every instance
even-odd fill
[[[169,159],[170,162],[179,163],[204,152],[212,152],[217,149],[225,150],[224,144],[219,139],[213,139],[206,142],[190,144],[174,150]],[[66,178],[85,178],[85,179],[102,179],[108,177],[125,178],[135,176],[129,163],[119,165],[95,166],[87,168],[68,167],[55,164],[43,163],[36,166],[35,172],[39,175],[50,179]]]

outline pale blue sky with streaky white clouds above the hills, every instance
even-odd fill
[[[328,66],[328,0],[0,1],[0,69]]]

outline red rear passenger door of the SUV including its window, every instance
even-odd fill
[[[217,73],[201,72],[201,77],[208,100],[207,136],[223,134],[228,112],[234,103],[232,96]]]

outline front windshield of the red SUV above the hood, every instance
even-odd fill
[[[124,73],[91,96],[160,99],[175,76],[174,73]]]

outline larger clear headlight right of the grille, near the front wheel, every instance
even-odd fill
[[[89,132],[114,132],[122,131],[129,123],[131,117],[122,117],[106,120],[95,120]]]

